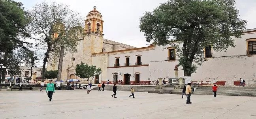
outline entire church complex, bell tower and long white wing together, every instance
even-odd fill
[[[101,13],[94,6],[85,20],[85,36],[79,39],[77,52],[66,52],[64,56],[62,80],[75,78],[87,83],[75,75],[75,66],[82,61],[102,69],[92,80],[93,84],[122,80],[123,84],[149,85],[149,81],[160,77],[172,82],[175,66],[179,64],[175,48],[154,45],[136,48],[104,39],[103,23]],[[233,39],[235,47],[227,48],[226,52],[216,52],[211,45],[204,48],[205,61],[191,75],[193,83],[234,86],[243,78],[247,85],[256,85],[256,29],[244,30],[240,38]],[[49,59],[47,70],[57,69],[58,64]],[[178,77],[183,77],[181,69],[178,67]]]

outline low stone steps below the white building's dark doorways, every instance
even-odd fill
[[[104,90],[106,91],[112,91],[113,85],[105,85],[106,87]],[[155,86],[140,86],[140,85],[117,85],[117,91],[131,91],[131,88],[134,88],[136,92],[147,92],[147,91],[154,91]],[[98,87],[95,87],[92,90],[98,90]],[[101,88],[102,90],[102,88]]]

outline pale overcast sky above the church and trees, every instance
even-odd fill
[[[70,9],[86,18],[93,6],[104,20],[104,38],[135,47],[147,46],[145,36],[139,30],[139,18],[145,11],[152,11],[168,0],[14,0],[31,9],[41,2],[68,4]],[[256,0],[235,0],[241,19],[247,20],[247,29],[256,28]],[[41,63],[40,63],[41,64]]]

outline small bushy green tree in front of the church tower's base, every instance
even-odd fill
[[[80,78],[86,78],[88,82],[92,82],[95,75],[100,75],[102,70],[100,67],[96,68],[96,66],[89,66],[81,62],[81,64],[77,64],[75,67],[75,75]],[[92,80],[90,78],[92,77]]]

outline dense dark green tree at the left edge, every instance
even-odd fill
[[[27,32],[29,19],[21,2],[0,0],[0,63],[9,68],[9,61],[17,48],[26,48],[24,37],[30,37]],[[14,64],[18,65],[18,64]],[[5,73],[6,69],[2,73]],[[3,75],[3,79],[5,75]]]

